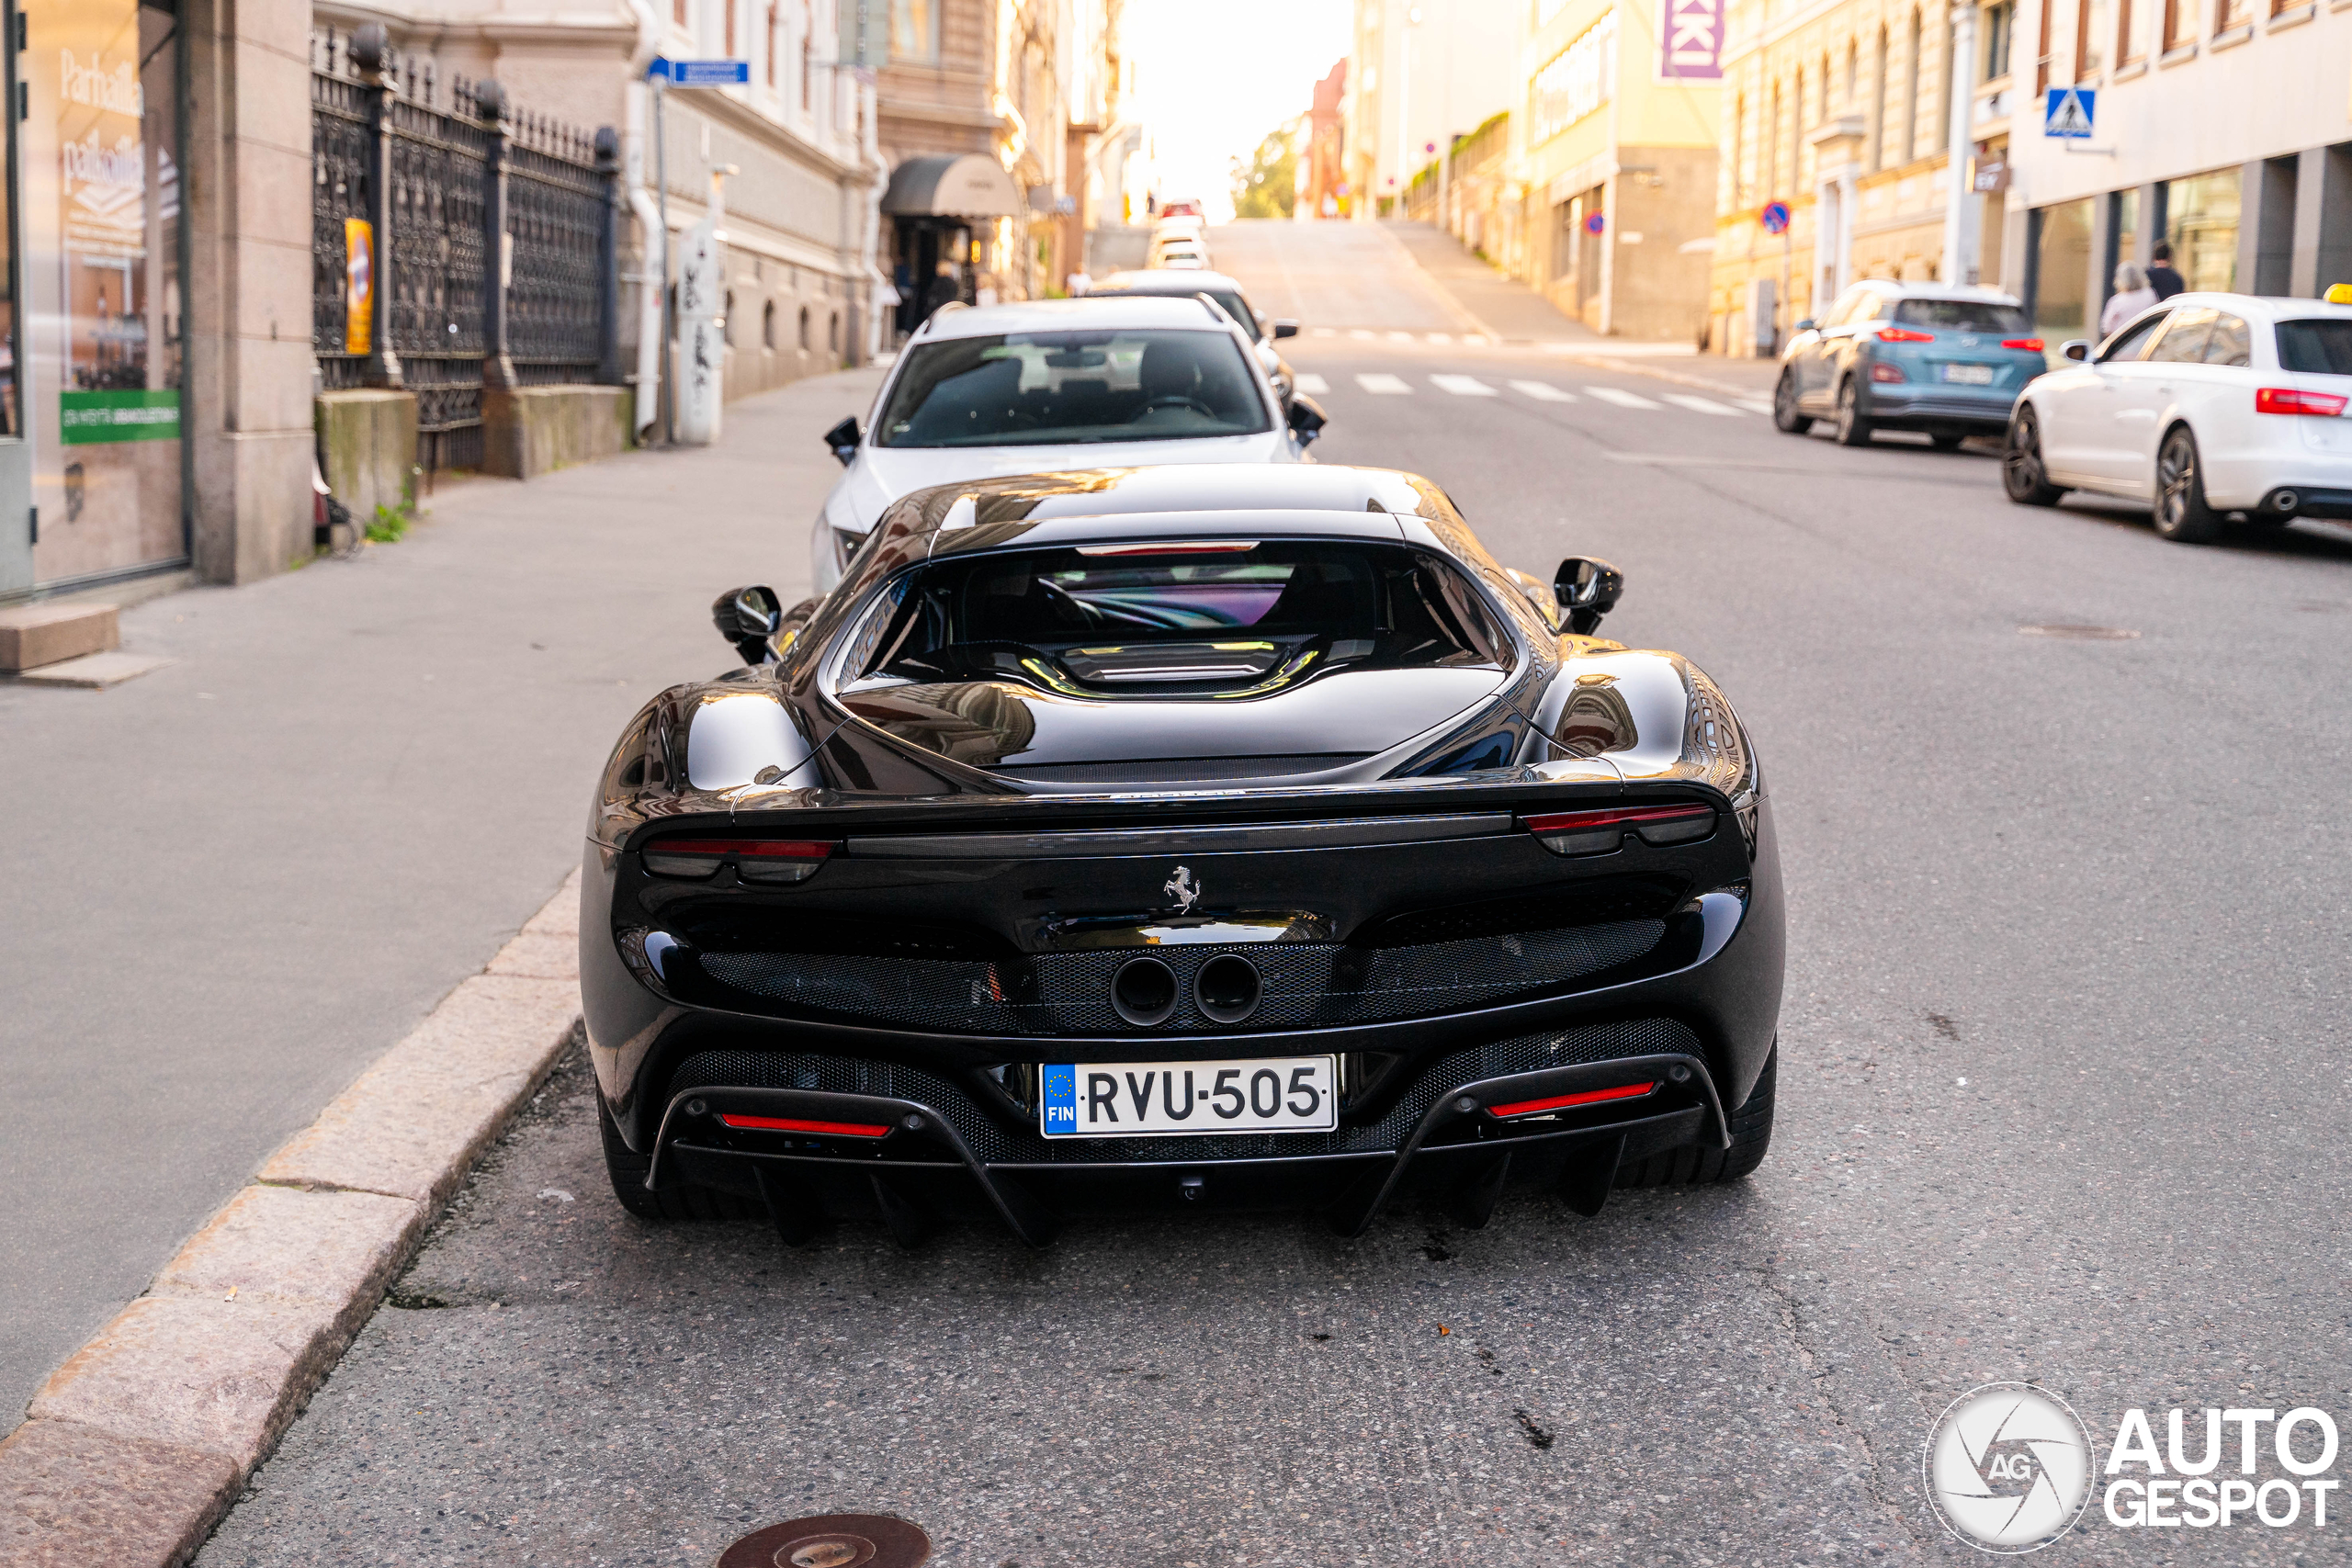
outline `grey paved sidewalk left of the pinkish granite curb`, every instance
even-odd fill
[[[174,663],[0,684],[0,1434],[296,1128],[579,865],[595,771],[731,656],[710,599],[807,581],[877,371],[710,451],[445,489],[355,562],[122,614]]]

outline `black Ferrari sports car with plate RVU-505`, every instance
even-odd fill
[[[1042,1244],[1745,1175],[1771,804],[1715,682],[1592,635],[1621,588],[1414,475],[1249,465],[915,491],[823,599],[724,595],[743,668],[647,703],[588,823],[616,1194]]]

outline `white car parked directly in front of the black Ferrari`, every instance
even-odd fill
[[[1197,299],[950,306],[901,348],[868,428],[826,430],[842,477],[809,531],[816,592],[898,496],[1054,468],[1301,463],[1324,425],[1256,343]]]

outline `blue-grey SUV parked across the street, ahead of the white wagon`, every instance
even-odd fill
[[[1940,451],[2009,428],[2018,390],[2049,369],[2042,339],[1999,289],[1858,282],[1780,350],[1773,423],[1804,435],[1816,418],[1863,447],[1877,430],[1924,430]]]

